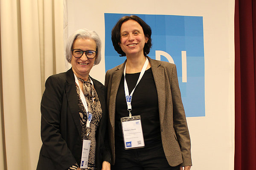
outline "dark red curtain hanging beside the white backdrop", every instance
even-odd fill
[[[256,0],[235,0],[235,170],[256,170]]]

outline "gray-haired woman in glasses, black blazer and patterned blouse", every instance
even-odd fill
[[[110,170],[105,88],[89,76],[101,60],[98,34],[75,31],[67,40],[66,59],[72,68],[45,83],[37,170]]]

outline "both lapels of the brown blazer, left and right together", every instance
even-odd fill
[[[148,56],[147,56],[148,57]],[[164,68],[161,66],[161,62],[157,61],[155,59],[151,59],[148,57],[148,60],[151,64],[151,69],[154,77],[154,82],[157,88],[157,98],[158,98],[158,108],[159,108],[159,114],[160,114],[160,122],[163,122],[163,117],[165,113],[165,99],[166,99],[166,92],[165,92],[165,81],[167,80],[165,78],[165,71]],[[125,60],[126,62],[126,60]],[[116,94],[117,90],[122,78],[122,74],[125,68],[125,62],[119,66],[116,67],[116,70],[113,71],[113,77],[112,77],[112,85],[111,85],[111,96],[110,101],[111,105],[109,105],[109,112],[115,113],[116,109]],[[110,122],[112,127],[115,126],[115,114],[110,114]]]

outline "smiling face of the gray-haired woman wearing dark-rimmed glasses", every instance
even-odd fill
[[[80,49],[83,51],[87,51],[87,50],[96,51],[96,42],[92,39],[78,38],[73,42],[72,49]],[[95,58],[88,59],[85,53],[80,58],[76,58],[72,56],[71,65],[72,65],[72,70],[76,74],[76,76],[80,77],[81,79],[88,79],[90,70],[93,68]]]

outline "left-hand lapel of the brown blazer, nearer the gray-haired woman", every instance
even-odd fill
[[[113,72],[111,93],[110,93],[111,94],[110,101],[113,101],[113,103],[109,103],[109,113],[113,113],[109,115],[109,119],[112,127],[115,127],[116,94],[117,94],[119,84],[122,78],[122,74],[125,68],[125,62],[122,65],[120,65],[120,67],[118,67],[116,71]]]

